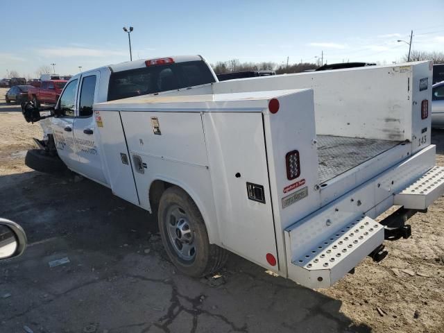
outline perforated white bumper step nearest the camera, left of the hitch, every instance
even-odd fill
[[[379,248],[383,241],[384,225],[364,216],[348,223],[309,251],[293,256],[293,266],[289,269],[293,278],[305,287],[330,287]]]

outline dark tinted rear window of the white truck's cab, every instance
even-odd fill
[[[205,62],[176,62],[111,74],[108,101],[215,82]]]

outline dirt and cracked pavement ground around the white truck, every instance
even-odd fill
[[[40,126],[4,92],[0,216],[24,227],[29,246],[0,262],[0,332],[444,332],[443,198],[413,216],[410,239],[386,241],[386,259],[364,260],[330,289],[300,287],[236,255],[221,277],[196,280],[174,269],[144,210],[71,173],[28,169]],[[444,131],[432,142],[443,165]]]

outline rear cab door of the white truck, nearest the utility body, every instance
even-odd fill
[[[80,78],[78,108],[74,119],[74,142],[78,156],[78,173],[108,185],[99,145],[99,133],[92,105],[99,89],[99,71],[90,71]]]

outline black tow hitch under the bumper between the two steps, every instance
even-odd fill
[[[384,239],[387,241],[396,241],[401,237],[407,239],[411,236],[411,226],[405,222],[417,212],[427,213],[425,210],[407,210],[400,207],[396,212],[387,216],[380,223],[384,225]]]

